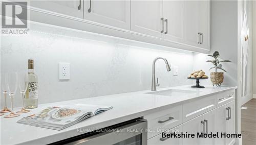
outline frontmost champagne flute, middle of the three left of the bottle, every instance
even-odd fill
[[[13,98],[14,95],[17,91],[18,87],[18,74],[17,72],[14,73],[8,73],[6,74],[6,84],[7,84],[7,92],[10,95],[11,98],[11,113],[9,115],[4,116],[5,118],[12,118],[12,117],[17,117],[20,114],[15,114],[13,112]]]

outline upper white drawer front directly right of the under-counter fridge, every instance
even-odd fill
[[[182,106],[172,107],[144,116],[147,119],[147,138],[182,124]]]

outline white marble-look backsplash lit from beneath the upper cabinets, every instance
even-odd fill
[[[157,61],[160,87],[193,83],[186,79],[194,61],[188,51],[39,23],[31,23],[26,36],[1,37],[1,73],[27,71],[28,59],[34,59],[39,104],[151,89],[156,57],[179,67],[179,75],[173,76],[162,60]],[[69,81],[59,81],[59,62],[70,63]],[[14,104],[21,102],[17,91]]]

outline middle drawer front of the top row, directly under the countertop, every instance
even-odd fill
[[[217,107],[217,95],[207,96],[183,105],[183,122],[195,118]]]

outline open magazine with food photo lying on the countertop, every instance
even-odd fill
[[[112,109],[112,106],[75,104],[60,107],[48,107],[39,113],[24,117],[17,123],[62,130],[84,119]]]

